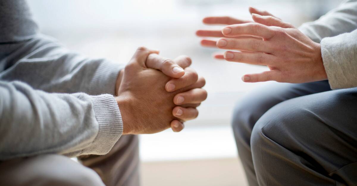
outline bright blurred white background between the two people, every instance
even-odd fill
[[[265,67],[212,59],[217,49],[203,48],[197,29],[205,16],[250,19],[248,6],[270,11],[300,26],[316,20],[342,0],[31,0],[43,33],[93,58],[125,64],[138,46],[175,58],[185,54],[206,78],[208,98],[200,115],[180,133],[170,130],[140,136],[143,186],[246,185],[230,129],[232,109],[246,92],[241,76]]]

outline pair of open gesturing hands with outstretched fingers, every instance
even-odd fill
[[[321,57],[321,46],[301,33],[291,24],[281,21],[266,11],[250,8],[254,22],[226,18],[233,23],[224,27],[224,37],[216,42],[227,51],[215,58],[231,62],[266,65],[270,71],[258,74],[246,74],[245,82],[278,81],[286,83],[306,83],[326,80],[327,75]],[[205,18],[203,22],[217,23],[214,18]],[[217,20],[217,17],[216,17]],[[202,34],[205,32],[205,34]],[[198,36],[208,35],[207,31],[197,31]],[[218,36],[211,34],[211,37]],[[202,40],[204,46],[213,47],[212,40]],[[209,44],[208,44],[209,43]]]

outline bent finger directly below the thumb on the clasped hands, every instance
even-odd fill
[[[185,75],[181,78],[172,79],[166,83],[165,89],[168,92],[173,92],[175,90],[181,89],[193,85],[198,80],[198,75],[195,70],[190,67],[185,69]]]

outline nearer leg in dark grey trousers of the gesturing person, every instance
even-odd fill
[[[353,88],[298,97],[267,111],[251,139],[259,183],[356,185],[356,108]]]

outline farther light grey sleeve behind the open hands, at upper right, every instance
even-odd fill
[[[346,0],[316,21],[304,23],[299,30],[320,43],[325,37],[352,32],[357,28],[357,0]]]

